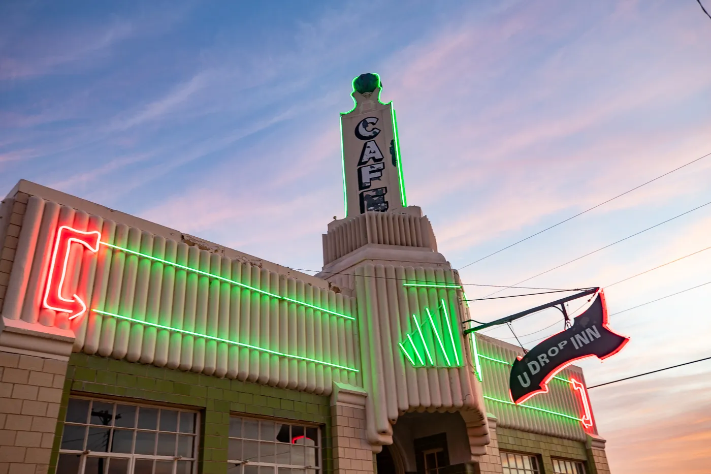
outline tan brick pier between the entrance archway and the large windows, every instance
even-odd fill
[[[373,474],[373,450],[365,441],[365,409],[348,404],[331,406],[333,473]]]

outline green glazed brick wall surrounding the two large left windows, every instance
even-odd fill
[[[70,394],[108,396],[138,403],[157,402],[201,411],[200,474],[227,473],[230,413],[319,423],[322,426],[324,473],[333,470],[328,396],[107,357],[72,354],[48,474],[55,474]]]

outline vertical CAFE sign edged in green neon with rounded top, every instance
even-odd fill
[[[346,216],[407,206],[402,182],[397,120],[392,102],[380,102],[377,74],[353,80],[350,112],[341,114]]]

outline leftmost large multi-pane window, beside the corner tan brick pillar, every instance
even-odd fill
[[[193,474],[193,411],[70,398],[57,474]]]

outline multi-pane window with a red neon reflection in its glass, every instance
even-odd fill
[[[233,416],[228,474],[320,474],[320,439],[312,426]]]

